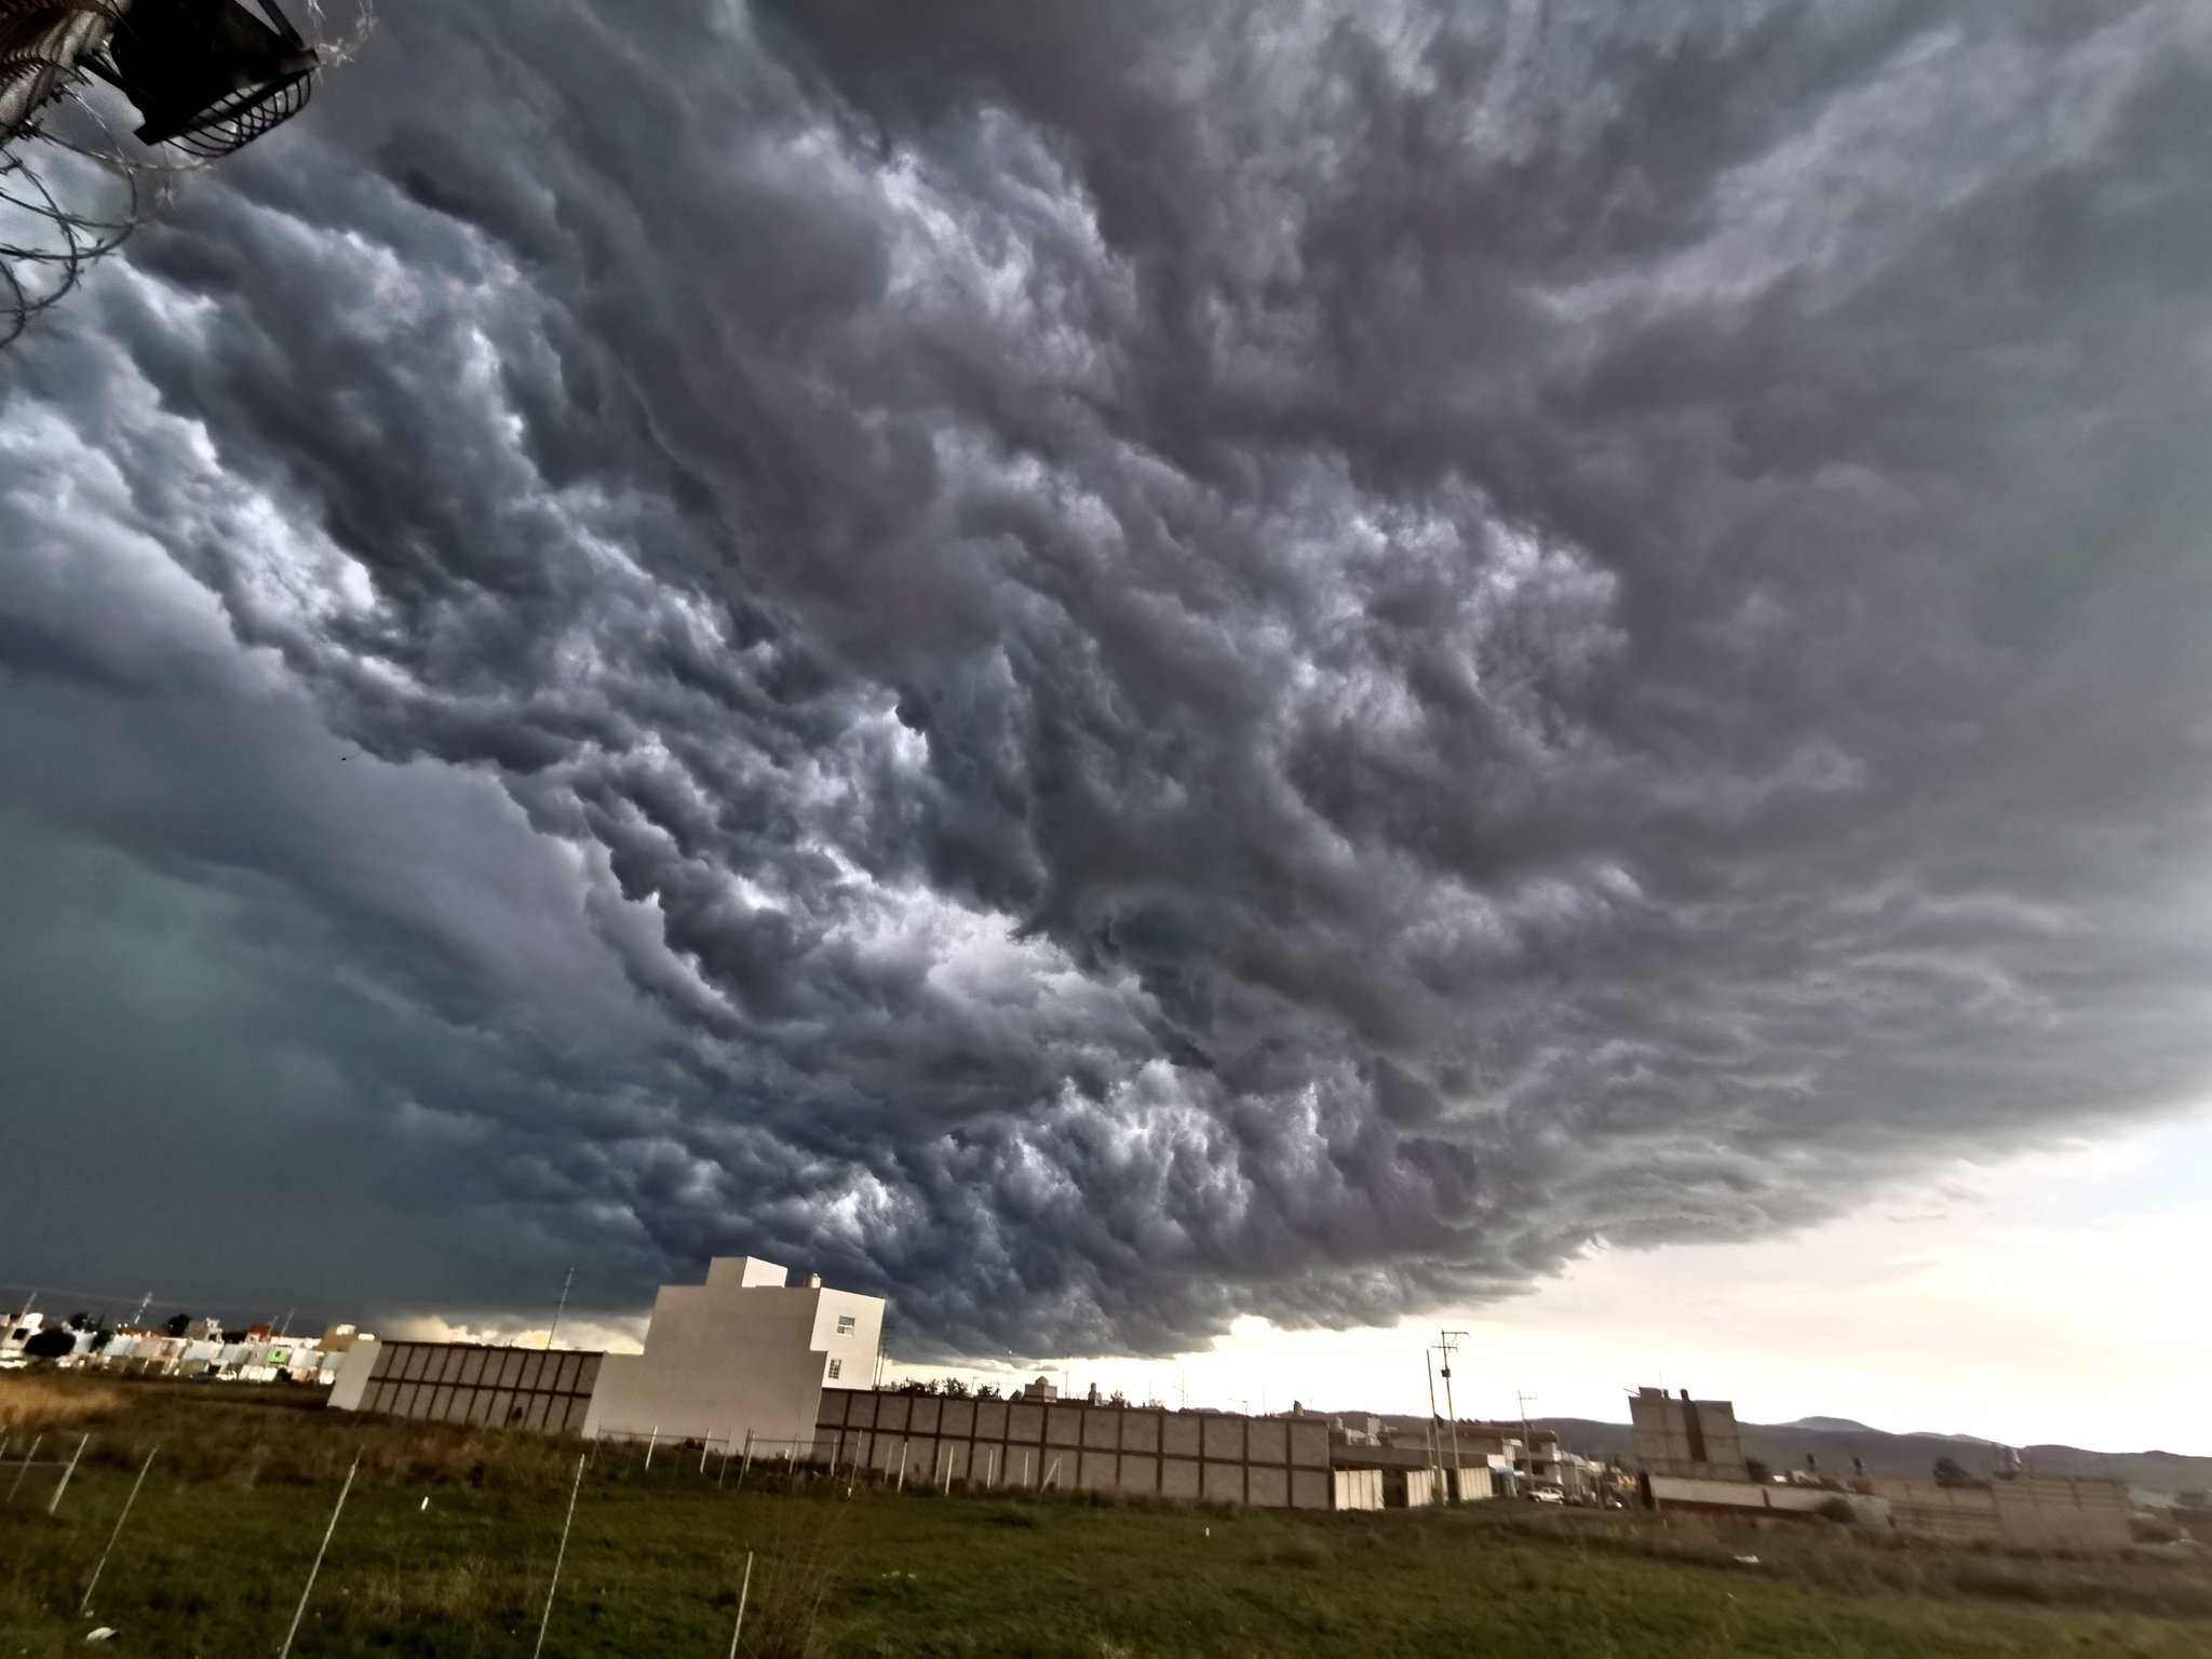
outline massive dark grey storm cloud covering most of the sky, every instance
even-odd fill
[[[71,1135],[1060,1352],[2201,1091],[2201,9],[633,11],[389,0],[11,354]]]

